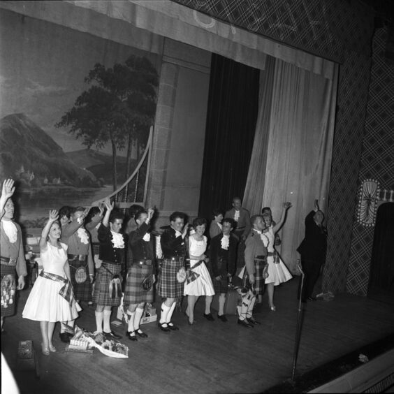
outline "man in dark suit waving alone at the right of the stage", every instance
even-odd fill
[[[302,270],[305,272],[302,295],[300,295],[300,286],[298,287],[298,299],[301,296],[302,302],[316,300],[312,297],[314,285],[319,277],[321,266],[326,261],[327,229],[323,226],[323,221],[324,214],[319,209],[318,200],[314,200],[314,210],[305,217],[305,238],[297,248],[301,255]]]

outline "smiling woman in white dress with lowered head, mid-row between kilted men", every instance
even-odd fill
[[[184,284],[184,296],[187,296],[186,315],[189,325],[194,323],[194,306],[200,296],[205,298],[205,316],[206,319],[214,320],[210,313],[214,288],[210,272],[207,270],[204,261],[209,259],[205,256],[207,249],[207,237],[205,237],[205,227],[207,221],[203,217],[198,217],[193,221],[195,233],[189,237],[189,258],[190,268],[187,271],[187,279]]]

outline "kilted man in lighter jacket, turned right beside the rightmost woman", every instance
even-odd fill
[[[260,324],[253,317],[256,296],[263,293],[264,279],[268,277],[267,246],[268,238],[263,234],[265,228],[261,215],[251,217],[253,226],[245,242],[245,273],[242,281],[242,306],[238,324],[251,328]]]

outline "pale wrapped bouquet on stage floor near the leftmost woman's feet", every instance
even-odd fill
[[[93,353],[94,348],[108,357],[129,358],[129,348],[126,345],[115,340],[106,340],[103,333],[89,333],[75,326],[75,335],[66,346],[66,351]]]

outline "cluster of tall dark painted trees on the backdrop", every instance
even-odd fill
[[[159,77],[146,57],[131,55],[125,64],[105,68],[95,64],[85,78],[89,89],[75,100],[73,108],[55,126],[71,126],[69,133],[82,144],[103,149],[110,141],[112,147],[113,189],[117,189],[117,150],[127,149],[125,179],[131,174],[131,149],[140,145],[149,133],[156,110],[156,88]]]

